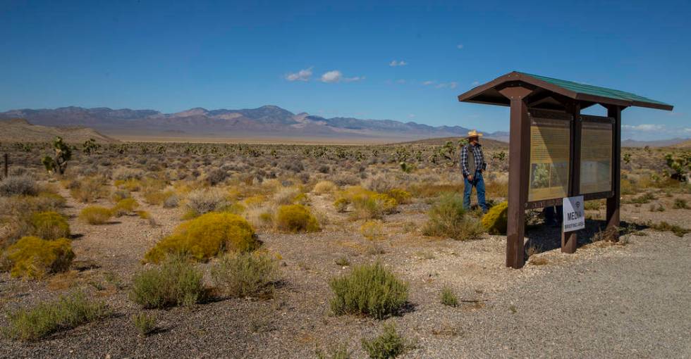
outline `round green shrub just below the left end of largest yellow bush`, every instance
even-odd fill
[[[181,256],[134,275],[130,299],[143,308],[192,306],[204,298],[203,274]]]

